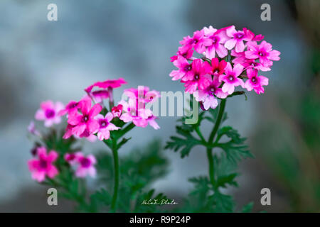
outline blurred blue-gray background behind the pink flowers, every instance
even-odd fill
[[[46,18],[50,3],[58,5],[58,21]],[[272,21],[261,21],[263,3],[270,4]],[[301,77],[312,47],[292,7],[290,1],[267,0],[0,1],[0,211],[72,211],[68,203],[54,208],[46,205],[46,188],[33,182],[27,169],[32,143],[26,138],[26,127],[41,101],[77,100],[93,82],[118,77],[128,84],[116,90],[116,99],[123,88],[138,85],[181,91],[183,85],[169,77],[174,70],[169,57],[183,36],[203,26],[247,27],[265,35],[282,52],[272,71],[263,74],[270,78],[265,94],[251,92],[247,101],[242,96],[228,101],[228,124],[252,141],[260,123],[272,116],[275,96],[290,94],[289,101],[294,102],[299,89],[307,86]],[[158,131],[135,128],[123,152],[153,138],[164,143],[175,133],[176,119],[161,117]],[[103,146],[86,145],[85,152]],[[207,173],[206,153],[201,148],[183,160],[172,151],[164,153],[171,160],[171,171],[156,182],[159,192],[173,198],[185,195],[191,189],[187,178]],[[239,206],[255,201],[258,211],[266,209],[259,203],[260,189],[269,187],[273,197],[267,209],[289,211],[286,192],[272,182],[269,167],[259,160],[259,146],[252,153],[257,159],[242,163],[240,188],[230,193],[235,193]]]

